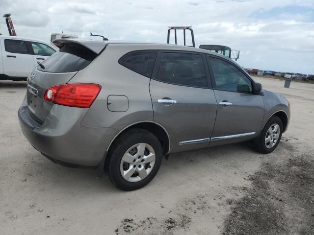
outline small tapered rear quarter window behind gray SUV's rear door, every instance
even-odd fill
[[[131,52],[124,55],[119,63],[144,76],[151,77],[154,69],[156,52]]]

